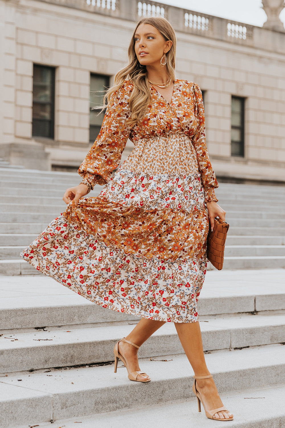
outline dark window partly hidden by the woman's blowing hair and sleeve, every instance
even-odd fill
[[[94,143],[96,140],[105,112],[102,113],[99,110],[91,110],[93,107],[103,105],[103,97],[106,89],[109,88],[109,76],[103,76],[100,74],[90,75],[90,129],[89,129],[89,140]]]

